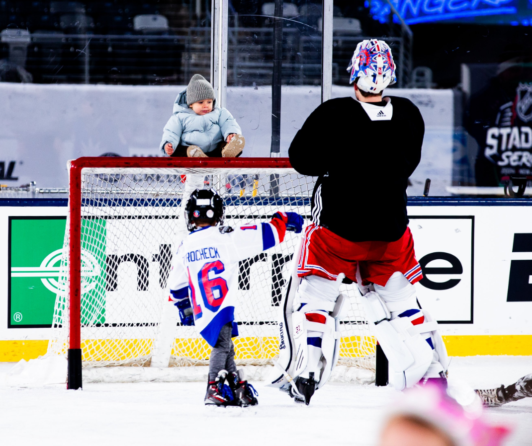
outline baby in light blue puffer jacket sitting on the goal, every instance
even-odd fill
[[[201,74],[194,74],[173,104],[164,126],[161,152],[169,156],[237,157],[245,139],[234,117],[219,107],[214,89]]]

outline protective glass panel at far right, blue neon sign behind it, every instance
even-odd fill
[[[340,73],[357,41],[383,38],[397,65],[397,84],[385,95],[409,98],[425,119],[409,195],[421,195],[427,178],[429,196],[511,198],[527,184],[525,196],[532,193],[530,12],[529,2],[517,0],[460,8],[334,1],[333,62]],[[346,85],[347,77],[333,75],[333,83]]]

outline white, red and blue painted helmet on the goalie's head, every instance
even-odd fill
[[[362,40],[355,49],[351,63],[349,83],[368,93],[380,93],[397,81],[392,50],[384,40]]]

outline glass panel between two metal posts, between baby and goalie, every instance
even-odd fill
[[[275,3],[232,5],[227,106],[246,137],[246,156],[287,156],[295,133],[321,102],[321,3],[284,2],[278,33]],[[274,69],[276,39],[280,63]],[[280,94],[272,90],[279,84]]]

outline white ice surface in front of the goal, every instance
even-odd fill
[[[12,366],[0,363],[2,445],[374,445],[383,411],[398,395],[373,384],[330,383],[305,407],[254,382],[259,406],[223,409],[203,405],[203,382],[89,383],[82,391],[15,389],[4,384]],[[493,388],[529,373],[532,357],[456,357],[449,379]],[[532,398],[487,413],[513,427],[506,444],[530,444]]]

